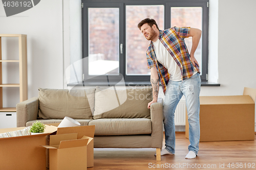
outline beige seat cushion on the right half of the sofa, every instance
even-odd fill
[[[101,118],[92,120],[89,125],[95,125],[95,135],[139,135],[151,134],[151,119],[148,118]]]

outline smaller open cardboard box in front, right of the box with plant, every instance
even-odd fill
[[[42,145],[50,151],[50,169],[87,169],[87,145],[93,140],[77,133],[52,135],[50,145]]]

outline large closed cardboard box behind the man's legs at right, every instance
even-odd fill
[[[254,140],[254,105],[249,95],[200,96],[200,141]],[[186,138],[188,127],[186,114]]]

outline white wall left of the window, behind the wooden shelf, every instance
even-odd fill
[[[62,1],[40,1],[35,7],[10,17],[6,17],[0,3],[0,34],[27,34],[28,98],[38,96],[38,87],[63,88],[62,30]],[[8,43],[8,48],[13,48],[9,42],[12,41],[4,40],[3,45]],[[3,57],[7,54],[5,51]],[[18,80],[18,75],[15,79]],[[4,97],[9,98],[12,90],[9,92]],[[15,105],[16,102],[10,100],[5,107]]]

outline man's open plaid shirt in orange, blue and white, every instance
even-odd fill
[[[189,36],[190,27],[173,27],[164,31],[160,30],[159,32],[159,40],[180,67],[182,80],[189,79],[193,76],[194,70],[200,73],[199,66],[197,64],[194,66],[191,62],[184,41],[184,38]],[[146,58],[148,68],[157,67],[158,76],[161,80],[163,92],[165,93],[170,75],[168,74],[168,70],[157,61],[152,41],[147,48]]]

